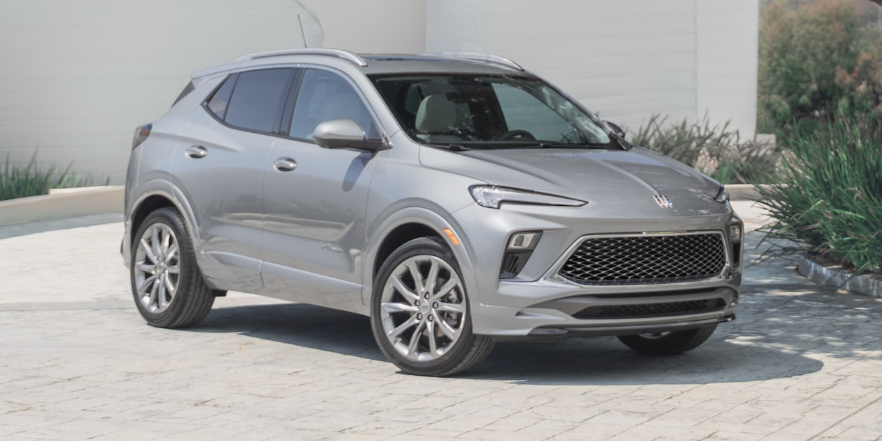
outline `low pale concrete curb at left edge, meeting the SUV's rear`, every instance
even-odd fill
[[[123,185],[50,190],[48,195],[0,201],[0,225],[122,213]]]

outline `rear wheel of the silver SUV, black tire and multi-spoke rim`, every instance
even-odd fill
[[[158,233],[152,235],[153,232]],[[166,235],[177,243],[177,251],[168,246],[168,251],[154,253],[154,258],[150,258],[141,243],[142,239],[153,252],[153,242],[165,243]],[[199,272],[190,237],[181,213],[168,207],[148,214],[134,235],[129,269],[131,294],[138,312],[149,325],[161,328],[190,327],[205,318],[212,309],[214,291],[206,285],[206,280]],[[150,266],[153,273],[145,271]],[[173,293],[169,292],[163,277],[168,278],[168,284],[175,287]],[[146,286],[144,292],[138,292],[139,285]]]

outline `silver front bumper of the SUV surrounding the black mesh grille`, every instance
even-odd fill
[[[528,216],[523,215],[527,214],[524,212],[526,210],[516,219],[520,222],[513,222],[512,213],[508,213],[505,223],[473,224],[482,230],[480,235],[469,234],[477,265],[464,268],[464,272],[467,277],[474,277],[474,285],[468,288],[477,288],[470,290],[470,294],[476,294],[470,295],[475,333],[500,340],[661,333],[714,325],[736,316],[743,247],[740,242],[729,240],[728,226],[740,224],[731,212],[661,219],[557,216],[553,225],[549,225],[548,217],[537,221],[535,212]],[[507,228],[483,227],[487,225]],[[502,250],[512,231],[542,231],[542,239],[518,276],[500,280],[497,274],[501,253],[493,251]],[[558,275],[562,261],[572,252],[574,244],[587,235],[664,232],[675,235],[719,233],[726,256],[721,273],[704,280],[645,285],[583,285]]]

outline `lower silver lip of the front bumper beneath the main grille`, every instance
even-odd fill
[[[738,304],[737,281],[603,287],[607,288],[605,292],[552,287],[547,280],[502,282],[499,295],[551,300],[527,306],[474,305],[472,317],[476,333],[500,340],[678,331],[733,320]],[[484,325],[488,322],[490,325]]]

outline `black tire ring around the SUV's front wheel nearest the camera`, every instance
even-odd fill
[[[445,355],[428,362],[415,362],[409,360],[400,355],[395,348],[392,348],[392,343],[390,343],[389,339],[385,336],[383,317],[380,311],[380,304],[382,303],[381,297],[383,289],[385,288],[385,282],[392,274],[392,271],[398,267],[401,262],[408,258],[420,255],[430,255],[442,258],[448,265],[451,265],[453,271],[456,272],[457,277],[459,277],[462,282],[463,303],[466,305],[466,323],[463,325],[460,338],[456,341],[454,347]],[[466,290],[466,283],[465,280],[462,279],[459,262],[457,262],[456,258],[453,256],[452,251],[447,246],[439,243],[439,241],[433,238],[422,237],[401,245],[397,250],[394,250],[392,254],[385,259],[383,265],[380,266],[380,270],[377,272],[377,277],[374,279],[373,292],[370,296],[370,326],[380,350],[383,351],[386,358],[391,360],[392,363],[395,363],[396,366],[400,367],[402,370],[415,374],[436,375],[437,371],[451,370],[453,367],[460,364],[463,358],[468,354],[475,340],[475,335],[472,333],[471,305],[469,303],[470,298]]]

